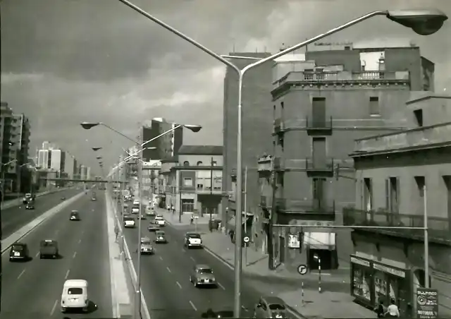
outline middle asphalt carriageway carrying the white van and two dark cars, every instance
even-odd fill
[[[90,195],[83,196],[21,240],[29,246],[31,261],[10,263],[9,251],[1,255],[0,319],[62,318],[60,298],[66,279],[86,279],[89,299],[98,305],[97,309],[91,307],[90,313],[71,313],[68,317],[112,317],[105,200],[102,191],[97,194],[96,202],[90,200]],[[61,194],[56,195],[53,203],[61,201],[60,197]],[[80,212],[80,222],[70,222],[71,210]],[[39,259],[39,241],[42,239],[58,241],[61,258]]]

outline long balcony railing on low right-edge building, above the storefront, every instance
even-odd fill
[[[343,225],[387,227],[383,229],[366,228],[364,231],[380,232],[393,236],[423,239],[423,229],[390,229],[389,227],[424,227],[424,216],[399,214],[384,210],[365,211],[355,208],[343,208]],[[428,217],[429,239],[451,243],[451,219],[445,217]]]

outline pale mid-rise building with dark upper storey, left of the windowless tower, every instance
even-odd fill
[[[164,202],[177,212],[217,214],[221,211],[223,147],[182,145],[178,161],[161,160],[166,179]]]

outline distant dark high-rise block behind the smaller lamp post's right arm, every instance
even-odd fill
[[[156,118],[149,121],[149,123],[142,126],[142,140],[145,142],[151,140],[162,133],[175,128],[178,124],[168,123],[165,119]],[[176,158],[177,152],[183,143],[183,127],[180,127],[171,133],[157,138],[153,142],[147,143],[147,148],[154,148],[152,150],[144,149],[142,158],[144,162],[149,162],[152,159]]]

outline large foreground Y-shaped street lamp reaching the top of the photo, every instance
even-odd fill
[[[447,20],[447,16],[445,13],[443,13],[440,10],[437,9],[430,9],[430,10],[404,10],[404,11],[373,11],[371,13],[368,13],[362,17],[359,17],[357,19],[354,19],[348,23],[345,23],[343,25],[340,25],[337,28],[333,28],[331,30],[328,30],[327,32],[322,33],[321,35],[317,35],[316,37],[312,37],[311,39],[301,42],[299,44],[296,44],[293,47],[290,47],[288,49],[285,49],[281,52],[278,52],[276,54],[273,54],[271,56],[268,56],[265,59],[261,59],[259,61],[256,61],[252,64],[248,64],[245,66],[245,68],[240,69],[239,67],[235,66],[232,62],[225,59],[223,56],[216,54],[211,49],[204,47],[204,45],[200,44],[199,42],[193,40],[191,37],[188,37],[183,32],[180,32],[179,30],[171,27],[171,25],[168,25],[167,23],[163,22],[162,20],[159,20],[158,18],[152,16],[150,13],[147,13],[139,6],[136,6],[135,4],[132,4],[128,0],[119,0],[126,6],[132,8],[133,10],[140,13],[142,16],[145,16],[149,20],[152,20],[154,23],[160,25],[164,29],[172,32],[173,34],[177,35],[178,37],[181,37],[183,40],[189,42],[190,44],[194,45],[194,47],[197,47],[198,49],[202,50],[206,54],[209,54],[209,56],[212,56],[214,59],[220,61],[223,64],[226,64],[226,66],[229,66],[232,68],[238,76],[238,124],[237,124],[237,189],[236,189],[236,211],[239,212],[235,216],[235,304],[234,304],[234,315],[235,318],[240,317],[240,310],[241,310],[241,301],[240,301],[240,294],[241,294],[241,259],[242,259],[242,208],[241,208],[241,202],[242,202],[242,87],[243,87],[243,76],[247,71],[249,71],[252,68],[255,68],[257,66],[260,66],[261,64],[264,64],[268,61],[273,61],[274,59],[277,59],[279,56],[283,56],[285,54],[288,54],[290,52],[293,52],[297,49],[300,49],[302,47],[307,46],[308,44],[311,44],[313,42],[316,42],[318,40],[321,40],[323,37],[328,37],[329,35],[333,35],[336,32],[339,32],[341,30],[345,30],[347,28],[350,28],[352,25],[355,25],[357,23],[361,23],[364,20],[367,20],[369,18],[373,18],[375,16],[385,16],[388,19],[395,21],[396,23],[399,23],[400,25],[404,25],[407,28],[411,28],[414,30],[414,32],[418,33],[419,35],[431,35],[442,27],[445,20]]]

